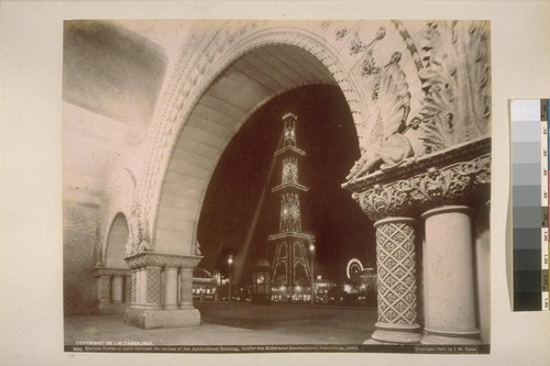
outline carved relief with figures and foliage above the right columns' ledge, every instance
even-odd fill
[[[416,75],[405,75],[402,69],[402,48],[388,60],[374,56],[374,47],[385,42],[386,29],[381,27],[370,43],[346,27],[336,32],[337,40],[351,37],[351,55],[361,55],[369,110],[358,125],[361,158],[348,175],[349,182],[399,165],[415,154],[417,141],[424,151],[416,155],[422,156],[490,134],[488,22],[430,21],[415,37],[402,22],[393,21],[393,25],[405,43],[403,51],[413,58]],[[421,91],[410,96],[408,82],[415,79],[421,82]],[[409,115],[411,98],[421,108]],[[407,133],[409,129],[419,132]]]

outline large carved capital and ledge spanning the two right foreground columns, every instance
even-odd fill
[[[485,137],[411,158],[342,185],[373,221],[464,204],[488,197],[491,138]]]

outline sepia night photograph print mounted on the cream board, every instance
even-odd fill
[[[66,20],[66,352],[487,354],[491,23]]]

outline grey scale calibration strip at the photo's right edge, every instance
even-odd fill
[[[514,311],[549,310],[548,106],[510,101]]]

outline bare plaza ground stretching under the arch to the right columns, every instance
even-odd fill
[[[201,324],[142,330],[123,315],[65,318],[65,345],[127,342],[152,345],[362,344],[371,337],[376,309],[197,302]]]

